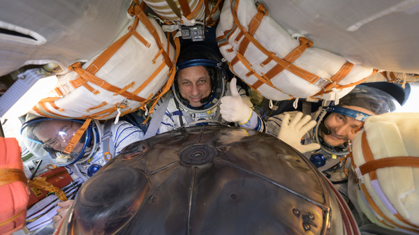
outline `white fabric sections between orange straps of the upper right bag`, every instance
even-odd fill
[[[244,29],[249,31],[249,23],[253,19],[253,16],[257,13],[254,1],[240,0],[235,1],[235,4],[238,4],[237,19],[240,21],[240,24],[244,27]],[[220,45],[220,52],[228,62],[231,62],[237,56],[238,48],[244,39],[244,36],[242,36],[238,39],[238,41],[236,41],[237,36],[240,35],[240,29],[234,24],[235,22],[233,21],[230,1],[226,0],[224,1],[224,5],[221,10],[220,22],[216,28],[216,37]],[[275,22],[269,15],[263,17],[258,29],[256,29],[256,32],[253,34],[253,38],[255,38],[260,45],[265,47],[267,51],[274,53],[275,56],[281,59],[292,52],[295,47],[300,45],[300,42],[297,39],[290,36],[290,34],[285,31],[281,25],[277,24],[277,22]],[[316,48],[315,45],[316,42],[314,42],[314,47],[307,48],[304,53],[293,62],[293,65],[328,80],[333,75],[337,74],[337,72],[341,69],[341,66],[346,63],[346,59],[343,56]],[[235,73],[235,75],[250,85],[253,85],[258,78],[254,75],[249,76],[249,71],[254,70],[258,75],[263,76],[263,74],[267,73],[277,65],[277,62],[272,60],[270,63],[263,66],[261,63],[265,61],[268,56],[261,52],[253,43],[249,43],[243,56],[248,61],[248,63],[244,63],[247,63],[248,67],[251,67],[251,69],[249,70],[249,68],[244,66],[242,61],[238,61],[234,65],[231,65],[230,63],[230,69],[233,73]],[[372,68],[367,68],[362,65],[354,65],[351,72],[348,73],[348,75],[340,82],[337,82],[337,84],[344,86],[353,84],[354,82],[359,82],[363,78],[371,75],[372,71]],[[319,84],[319,82],[325,81],[323,79],[318,79],[318,82],[311,84],[310,82],[302,79],[299,75],[295,75],[294,73],[284,69],[281,73],[270,79],[274,88],[262,85],[257,88],[257,90],[263,96],[271,100],[288,100],[290,98],[308,97],[322,98],[325,100],[338,100],[353,89],[353,86],[349,86],[321,96],[314,96],[316,93],[323,90],[323,86],[321,86],[322,84]],[[328,82],[325,82],[325,84],[327,83]]]

